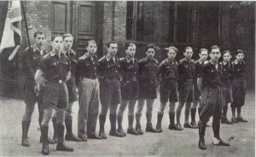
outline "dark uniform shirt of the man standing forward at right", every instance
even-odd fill
[[[205,87],[213,87],[216,88],[220,86],[220,66],[215,66],[210,61],[206,61],[198,74],[198,77],[202,77],[202,89]]]

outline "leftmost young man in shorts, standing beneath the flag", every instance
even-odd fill
[[[27,133],[32,119],[32,113],[35,108],[35,104],[38,102],[38,111],[39,111],[39,126],[44,116],[44,107],[42,105],[42,94],[43,91],[40,91],[39,84],[35,81],[34,77],[36,74],[38,62],[44,57],[47,53],[44,49],[45,42],[45,32],[38,30],[34,33],[35,44],[32,48],[26,48],[23,56],[23,70],[25,72],[26,81],[25,81],[25,104],[26,110],[23,115],[22,120],[22,141],[21,145],[24,147],[29,147],[30,143],[27,139]],[[39,93],[40,91],[40,93]],[[55,143],[53,140],[48,138],[49,143]],[[40,137],[41,141],[41,137]]]

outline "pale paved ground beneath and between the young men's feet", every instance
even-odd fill
[[[242,115],[248,123],[236,125],[222,125],[221,137],[229,140],[229,148],[212,146],[212,128],[207,127],[207,150],[198,149],[198,130],[184,129],[182,132],[169,131],[167,129],[169,118],[167,110],[163,119],[162,133],[144,133],[143,136],[108,137],[107,140],[88,140],[85,143],[67,142],[73,146],[73,153],[55,151],[55,145],[50,145],[50,156],[174,156],[174,157],[251,157],[255,154],[255,93],[247,92],[247,104],[242,108]],[[154,120],[160,105],[155,101]],[[29,131],[31,147],[20,145],[21,118],[24,113],[23,100],[13,98],[0,98],[0,155],[1,156],[42,156],[41,144],[38,143],[40,132],[38,131],[38,109],[32,115],[32,124]],[[145,109],[143,110],[145,111]],[[78,103],[74,105],[74,113],[78,113]],[[127,109],[124,113],[124,128],[127,128]],[[182,113],[183,115],[183,113]],[[230,109],[228,111],[230,117]],[[77,132],[77,115],[73,115],[73,131]],[[197,117],[198,118],[198,117]],[[143,115],[143,128],[146,118]],[[183,116],[182,116],[183,121]],[[106,121],[106,131],[109,130],[109,121]],[[98,131],[97,131],[98,132]],[[52,137],[52,125],[49,127],[49,136]]]

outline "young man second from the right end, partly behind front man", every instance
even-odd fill
[[[223,52],[223,62],[219,63],[221,76],[220,80],[223,87],[223,109],[221,123],[223,124],[233,124],[227,118],[228,107],[233,101],[232,97],[232,84],[231,84],[231,70],[232,65],[230,63],[231,53],[229,50]]]

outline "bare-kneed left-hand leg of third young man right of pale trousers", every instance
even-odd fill
[[[143,107],[145,104],[145,99],[140,98],[137,102],[137,111],[136,111],[136,131],[139,132],[141,135],[143,135],[143,130],[141,126],[141,117],[143,112]]]

